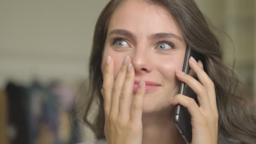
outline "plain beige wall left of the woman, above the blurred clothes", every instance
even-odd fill
[[[0,0],[0,88],[87,75],[93,27],[108,0]]]

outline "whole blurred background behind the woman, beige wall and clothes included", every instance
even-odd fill
[[[0,0],[0,144],[93,139],[68,115],[88,77],[94,25],[108,1]],[[225,63],[235,60],[256,113],[256,0],[195,1],[215,26]]]

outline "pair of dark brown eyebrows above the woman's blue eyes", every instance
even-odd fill
[[[110,31],[108,35],[114,35],[114,34],[123,35],[123,36],[129,37],[129,38],[135,38],[135,35],[132,32],[129,32],[128,30],[125,30],[125,29],[114,29],[114,30]],[[165,32],[152,34],[149,36],[149,39],[161,39],[161,38],[168,38],[168,37],[173,37],[173,38],[176,38],[176,39],[182,41],[182,38],[179,37],[178,35],[175,35],[173,33],[165,33]]]

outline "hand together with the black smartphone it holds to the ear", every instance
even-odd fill
[[[176,77],[181,80],[179,94],[169,103],[176,105],[174,123],[185,141],[217,144],[219,116],[215,87],[203,64],[204,57],[187,47],[183,72],[176,72]]]

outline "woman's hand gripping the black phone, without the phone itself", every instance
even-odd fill
[[[188,109],[191,115],[192,144],[217,144],[218,110],[214,84],[203,70],[201,61],[197,63],[191,57],[189,66],[197,75],[198,81],[180,71],[176,72],[176,76],[195,91],[200,107],[194,99],[181,94],[174,96],[169,102],[173,105],[181,104]]]

